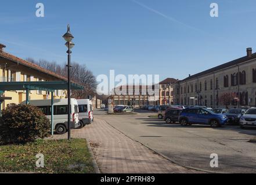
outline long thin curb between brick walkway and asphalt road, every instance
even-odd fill
[[[103,121],[105,121],[105,120],[103,120]],[[107,124],[109,124],[107,121],[105,121],[105,122],[106,122]],[[116,129],[118,132],[124,134],[124,132],[118,130],[118,129],[117,129],[116,127],[114,127],[113,125],[111,125],[111,124],[109,124],[109,125],[110,125],[110,127]],[[171,158],[165,156],[164,154],[160,153],[159,151],[156,151],[156,150],[154,150],[154,149],[151,149],[149,146],[146,146],[145,144],[139,142],[139,140],[135,140],[135,139],[129,137],[128,135],[126,135],[126,134],[124,134],[124,135],[127,136],[129,139],[134,140],[135,142],[140,143],[140,145],[143,145],[143,146],[147,147],[147,149],[153,151],[154,153],[156,153],[156,154],[158,154],[159,156],[165,158],[166,160],[172,162],[173,164],[182,166],[183,168],[186,168],[186,169],[193,169],[193,170],[196,170],[196,171],[207,172],[207,173],[221,173],[221,172],[207,171],[207,170],[205,170],[205,169],[194,168],[194,167],[191,167],[191,166],[185,166],[185,165],[179,164],[178,162],[171,160]],[[223,172],[222,172],[222,173],[223,173]],[[225,172],[224,172],[224,173],[225,173]]]

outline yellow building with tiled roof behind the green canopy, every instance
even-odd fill
[[[0,82],[39,82],[39,81],[66,81],[63,76],[48,71],[36,64],[13,56],[3,51],[5,45],[0,44]],[[51,99],[51,93],[46,91],[30,91],[30,99]],[[1,97],[11,97],[2,103],[1,110],[10,103],[26,101],[26,91],[0,92]],[[55,99],[67,97],[66,90],[56,90]]]

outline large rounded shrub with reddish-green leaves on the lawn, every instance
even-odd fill
[[[27,143],[49,136],[51,123],[35,106],[9,105],[0,120],[1,142]]]

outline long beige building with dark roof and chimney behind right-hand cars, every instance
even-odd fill
[[[236,97],[229,108],[256,106],[256,53],[248,48],[245,57],[189,75],[172,88],[176,104],[225,108],[219,97],[233,92]]]

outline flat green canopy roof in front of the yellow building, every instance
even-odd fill
[[[71,90],[83,90],[84,87],[71,83]],[[55,90],[67,90],[66,81],[53,82],[0,82],[0,91],[39,90],[54,92]]]

